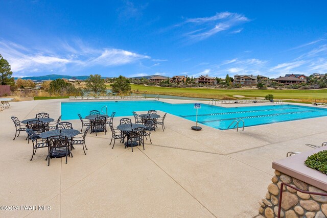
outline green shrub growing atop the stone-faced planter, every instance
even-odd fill
[[[310,168],[327,174],[327,150],[309,156],[305,164]]]

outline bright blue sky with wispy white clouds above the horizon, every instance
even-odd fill
[[[15,77],[327,73],[327,1],[0,3]]]

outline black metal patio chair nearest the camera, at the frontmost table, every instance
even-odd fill
[[[46,156],[45,160],[48,158],[48,166],[50,165],[50,158],[62,158],[66,157],[67,163],[67,156],[73,157],[73,154],[70,150],[70,144],[67,140],[67,137],[64,135],[55,135],[46,138],[48,142],[48,156]]]

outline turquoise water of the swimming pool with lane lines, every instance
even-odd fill
[[[78,119],[78,113],[84,117],[89,115],[91,110],[101,111],[104,105],[108,107],[108,114],[110,115],[111,112],[115,111],[115,116],[132,116],[132,111],[148,111],[153,109],[192,121],[196,120],[194,104],[169,104],[159,101],[61,103],[62,119]],[[243,119],[247,127],[320,116],[327,116],[327,109],[295,105],[224,108],[202,104],[201,109],[198,111],[198,122],[209,127],[225,130],[235,119]]]

